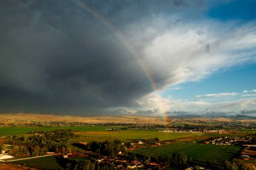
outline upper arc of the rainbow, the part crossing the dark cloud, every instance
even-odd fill
[[[94,17],[98,18],[100,20],[100,22],[102,22],[108,28],[108,30],[110,30],[111,32],[113,32],[117,35],[117,37],[122,42],[122,44],[129,50],[129,52],[131,52],[131,54],[133,54],[133,56],[137,60],[143,73],[145,73],[146,77],[148,78],[153,91],[157,90],[158,88],[156,86],[156,83],[155,83],[147,65],[143,62],[143,60],[141,60],[141,56],[135,50],[135,48],[133,46],[131,46],[131,44],[126,40],[125,36],[121,32],[119,32],[119,30],[117,30],[117,28],[115,28],[115,26],[113,26],[113,24],[110,24],[110,22],[108,22],[108,20],[106,20],[106,18],[104,16],[102,16],[100,13],[98,13],[98,11],[96,11],[95,9],[92,9],[92,7],[89,7],[84,1],[74,0],[74,2],[77,6],[81,7],[82,9],[86,10]]]

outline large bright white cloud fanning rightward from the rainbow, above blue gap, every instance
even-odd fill
[[[220,69],[256,62],[255,22],[177,23],[162,16],[151,21],[141,22],[137,30],[133,25],[140,36],[127,31],[127,37],[158,87],[199,81]]]

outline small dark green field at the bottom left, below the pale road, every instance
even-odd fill
[[[26,165],[28,167],[34,167],[39,169],[65,169],[61,166],[61,161],[58,161],[58,158],[55,156],[11,161],[11,163]]]

